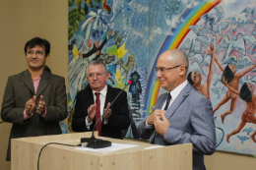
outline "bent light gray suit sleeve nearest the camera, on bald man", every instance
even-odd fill
[[[210,100],[200,97],[192,108],[191,127],[193,134],[168,127],[163,141],[169,144],[193,143],[193,152],[213,154],[216,150],[216,131],[213,108]]]

